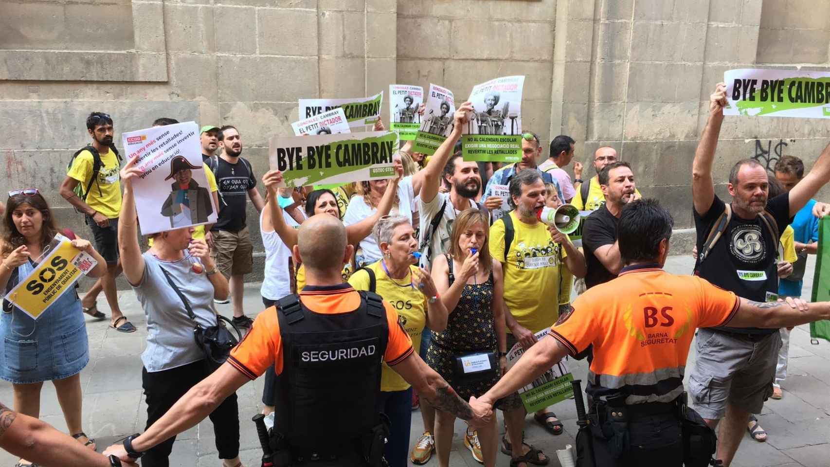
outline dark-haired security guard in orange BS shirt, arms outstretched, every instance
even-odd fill
[[[753,302],[699,277],[669,274],[662,266],[671,226],[671,215],[656,200],[627,204],[618,226],[626,264],[619,277],[576,299],[548,337],[471,400],[473,408],[492,406],[593,344],[586,389],[592,452],[580,453],[577,465],[709,465],[715,433],[686,407],[683,392],[695,328],[795,326],[827,319],[830,303]]]

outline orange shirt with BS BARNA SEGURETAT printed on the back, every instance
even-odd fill
[[[627,404],[669,402],[683,391],[695,328],[724,326],[739,304],[700,277],[634,265],[580,295],[551,334],[571,355],[593,344],[588,394],[622,393]]]

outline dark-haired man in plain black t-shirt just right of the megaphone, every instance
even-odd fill
[[[612,280],[623,269],[617,223],[623,207],[640,197],[634,173],[627,162],[609,163],[599,171],[598,180],[605,203],[585,219],[582,230],[582,246],[588,265],[586,289]]]

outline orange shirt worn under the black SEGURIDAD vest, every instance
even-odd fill
[[[300,302],[314,313],[342,314],[360,306],[360,294],[349,284],[306,285],[300,292]],[[383,300],[383,308],[386,309],[389,328],[383,361],[392,366],[413,353],[413,343],[398,324],[398,313],[392,305]],[[251,331],[233,348],[227,362],[252,380],[260,377],[271,365],[274,365],[276,374],[282,372],[282,339],[275,307],[256,317]]]

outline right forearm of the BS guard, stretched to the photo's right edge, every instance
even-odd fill
[[[808,304],[790,298],[786,302],[754,302],[742,298],[735,315],[725,325],[730,328],[790,328],[818,319],[830,319],[830,302]]]

